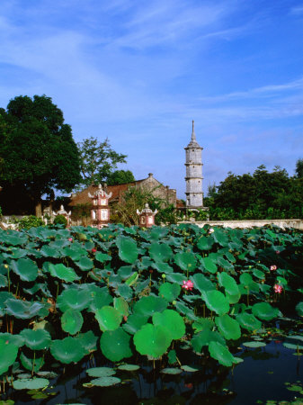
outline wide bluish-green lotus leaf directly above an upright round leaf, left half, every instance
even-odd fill
[[[67,288],[58,296],[57,307],[62,312],[68,309],[82,311],[90,305],[91,300],[92,296],[87,291],[77,288]]]

